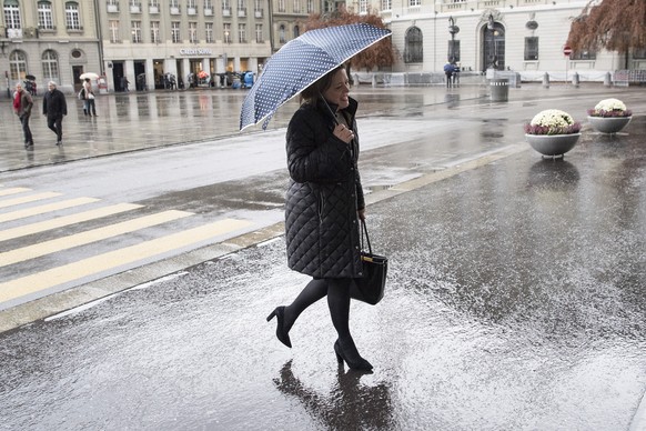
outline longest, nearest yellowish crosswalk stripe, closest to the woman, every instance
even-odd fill
[[[84,277],[98,274],[122,265],[144,261],[173,250],[194,245],[212,238],[252,224],[244,220],[221,220],[214,223],[184,230],[166,237],[125,247],[80,261],[64,264],[0,283],[0,301],[9,301],[27,294],[37,293],[52,287]]]

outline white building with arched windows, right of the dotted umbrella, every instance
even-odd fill
[[[598,0],[600,2],[600,0]],[[609,1],[609,0],[607,0]],[[398,72],[512,70],[524,80],[547,72],[562,79],[577,72],[603,80],[608,71],[645,69],[644,50],[573,52],[565,56],[572,20],[589,0],[381,0],[380,13],[393,31]],[[594,3],[593,3],[594,4]],[[361,3],[355,9],[361,10]]]

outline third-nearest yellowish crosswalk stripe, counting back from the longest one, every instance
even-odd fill
[[[12,240],[33,233],[44,232],[51,229],[63,228],[65,225],[82,223],[102,217],[114,216],[121,212],[141,208],[137,203],[118,203],[109,207],[97,208],[95,210],[83,211],[75,214],[62,216],[51,220],[39,221],[31,224],[19,225],[12,229],[0,230],[0,241]]]

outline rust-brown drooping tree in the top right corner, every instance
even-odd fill
[[[630,49],[646,48],[645,0],[591,0],[573,19],[567,44],[576,51],[599,48],[626,56]]]

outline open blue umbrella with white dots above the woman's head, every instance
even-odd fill
[[[307,31],[273,54],[242,102],[240,130],[264,120],[268,123],[287,100],[329,71],[391,34],[365,23]]]

